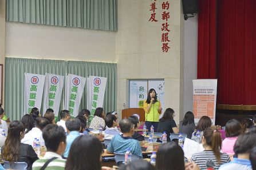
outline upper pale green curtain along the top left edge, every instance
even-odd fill
[[[6,21],[117,31],[118,0],[6,0]]]

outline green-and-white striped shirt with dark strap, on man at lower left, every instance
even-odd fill
[[[64,170],[66,165],[66,160],[62,159],[60,155],[54,152],[46,152],[45,156],[42,159],[38,159],[35,161],[32,165],[32,170],[40,170],[42,166],[51,159],[52,157],[58,157],[57,159],[54,159],[51,161],[48,166],[45,168],[45,170]]]

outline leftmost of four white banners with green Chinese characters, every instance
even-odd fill
[[[24,83],[24,114],[28,114],[33,107],[41,110],[45,75],[25,72]]]

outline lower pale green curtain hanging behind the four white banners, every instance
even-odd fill
[[[46,72],[66,75],[76,74],[87,78],[89,75],[103,76],[107,79],[103,108],[105,112],[116,110],[117,64],[98,62],[78,62],[64,60],[5,58],[5,112],[11,120],[20,120],[23,116],[24,73],[45,75]],[[63,110],[62,92],[60,111]],[[81,108],[87,108],[86,85],[81,99]],[[43,104],[41,106],[41,111]]]

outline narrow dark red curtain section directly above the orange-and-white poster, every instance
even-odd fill
[[[216,78],[216,0],[199,0],[198,79]]]

